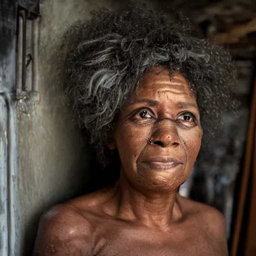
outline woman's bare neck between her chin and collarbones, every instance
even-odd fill
[[[166,229],[169,223],[182,217],[177,200],[177,188],[172,191],[143,191],[128,182],[125,175],[115,186],[116,216],[139,220],[145,225]]]

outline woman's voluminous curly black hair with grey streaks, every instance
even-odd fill
[[[230,55],[206,39],[193,37],[187,22],[132,5],[94,11],[66,34],[66,84],[73,111],[105,166],[106,145],[118,109],[146,71],[155,66],[179,70],[194,90],[204,137],[214,135],[220,115],[234,110],[234,66]]]

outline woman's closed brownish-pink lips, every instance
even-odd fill
[[[180,160],[169,156],[154,156],[143,160],[141,163],[150,169],[166,170],[183,164]]]

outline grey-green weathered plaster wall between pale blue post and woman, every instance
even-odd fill
[[[53,204],[91,189],[90,150],[64,104],[56,49],[68,24],[110,0],[43,0],[40,3],[39,88],[36,115],[19,120],[19,243],[30,255],[38,218]],[[89,169],[91,171],[89,171]]]

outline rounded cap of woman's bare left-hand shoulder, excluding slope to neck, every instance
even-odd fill
[[[92,255],[91,225],[69,203],[51,207],[40,218],[33,255]]]

